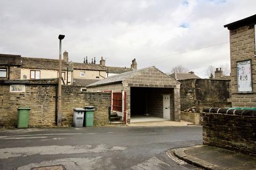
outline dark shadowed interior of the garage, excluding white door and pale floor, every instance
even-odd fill
[[[163,94],[171,95],[171,120],[173,119],[173,88],[131,87],[131,118],[154,116],[163,118]]]

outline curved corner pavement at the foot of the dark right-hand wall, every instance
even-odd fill
[[[256,169],[256,156],[207,145],[174,149],[174,155],[205,169]]]

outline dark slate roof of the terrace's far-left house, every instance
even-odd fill
[[[21,66],[20,55],[0,54],[0,65]]]

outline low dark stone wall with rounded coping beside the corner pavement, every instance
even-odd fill
[[[203,110],[203,143],[256,155],[256,111]]]

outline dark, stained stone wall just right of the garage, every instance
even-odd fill
[[[180,80],[181,111],[195,106],[196,112],[204,107],[231,107],[230,80]]]

